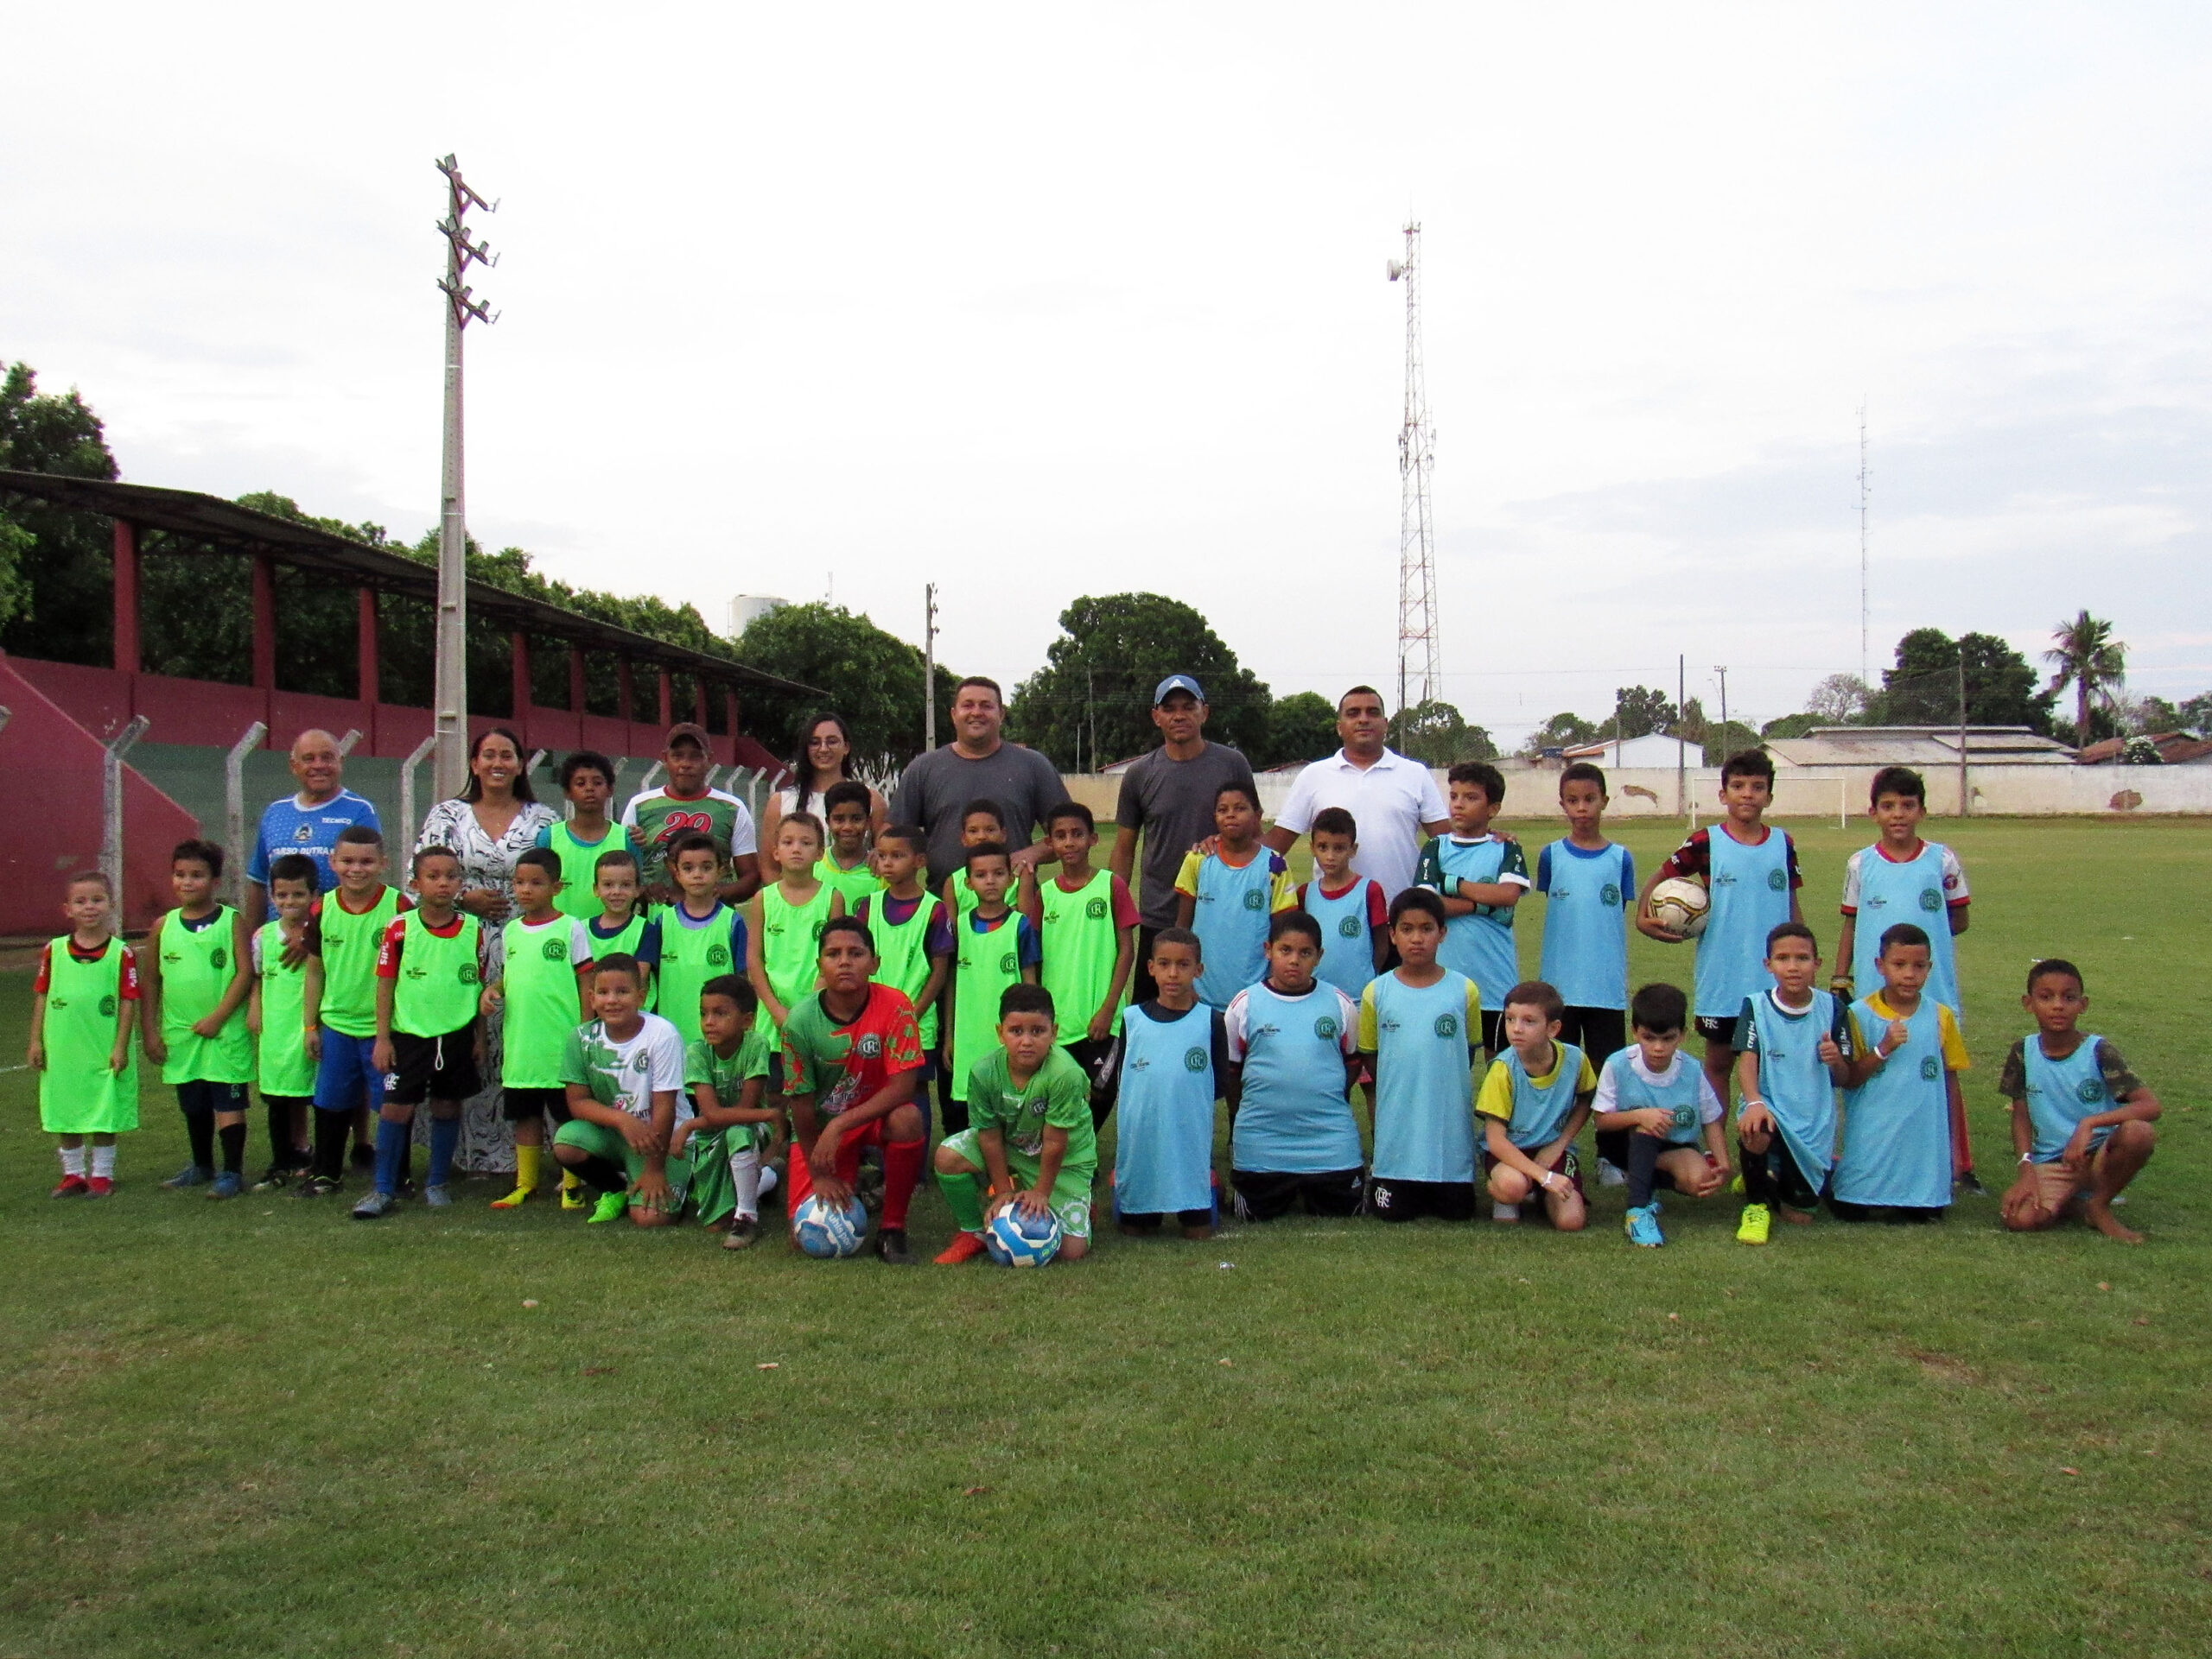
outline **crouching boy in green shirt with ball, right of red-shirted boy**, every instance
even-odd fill
[[[938,1256],[953,1267],[984,1252],[989,1217],[1009,1203],[1060,1219],[1060,1254],[1091,1250],[1091,1177],[1099,1144],[1091,1124],[1091,1079],[1057,1042],[1053,993],[1009,984],[998,1000],[1000,1046],[969,1075],[971,1126],[938,1144],[938,1186],[960,1237]],[[975,1177],[991,1179],[991,1208]]]

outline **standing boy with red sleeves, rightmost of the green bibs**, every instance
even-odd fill
[[[1053,880],[1024,889],[1022,909],[1037,929],[1037,982],[1053,993],[1060,1046],[1091,1079],[1091,1124],[1113,1110],[1106,1071],[1121,1026],[1121,991],[1137,962],[1137,900],[1110,869],[1093,869],[1099,845],[1091,807],[1062,801],[1044,816],[1044,838],[1060,860]]]

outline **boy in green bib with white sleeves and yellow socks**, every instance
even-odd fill
[[[551,847],[515,858],[515,909],[504,927],[504,967],[484,987],[484,1018],[500,1020],[500,1099],[515,1126],[515,1190],[493,1199],[493,1210],[518,1210],[538,1190],[544,1170],[546,1119],[568,1121],[568,1088],[560,1068],[568,1033],[591,1018],[591,958],[586,922],[564,916],[562,860]]]

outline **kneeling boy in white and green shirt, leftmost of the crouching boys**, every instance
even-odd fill
[[[591,967],[597,1015],[568,1033],[562,1082],[568,1121],[553,1133],[553,1157],[599,1201],[591,1221],[630,1212],[639,1228],[666,1228],[684,1212],[690,1159],[668,1157],[684,1099],[684,1037],[657,1013],[639,1011],[644,978],[635,956],[602,956]]]

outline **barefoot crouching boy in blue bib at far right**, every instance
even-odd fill
[[[2037,962],[2020,1002],[2035,1015],[2035,1035],[2013,1044],[1997,1079],[2013,1102],[2020,1152],[2004,1225],[2039,1232],[2079,1214],[2108,1239],[2141,1243],[2143,1234],[2112,1217],[2112,1199],[2150,1161],[2159,1097],[2108,1037],[2081,1035],[2088,995],[2073,962]]]

